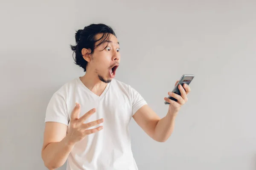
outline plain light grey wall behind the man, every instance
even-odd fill
[[[116,79],[161,117],[176,80],[195,74],[167,142],[132,119],[140,170],[256,170],[255,0],[1,0],[0,19],[1,170],[46,169],[45,110],[58,88],[84,75],[69,45],[90,23],[113,27]]]

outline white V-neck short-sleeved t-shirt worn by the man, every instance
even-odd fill
[[[81,105],[80,117],[96,108],[96,113],[84,123],[101,118],[104,122],[102,130],[76,143],[68,156],[67,170],[137,170],[128,125],[134,113],[147,104],[143,97],[130,85],[116,79],[112,79],[101,96],[97,96],[78,77],[53,94],[45,122],[60,122],[69,128],[70,114],[76,102]]]

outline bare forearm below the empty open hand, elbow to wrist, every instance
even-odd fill
[[[67,160],[74,144],[70,143],[67,136],[60,142],[52,142],[42,151],[42,159],[49,170],[61,167]]]

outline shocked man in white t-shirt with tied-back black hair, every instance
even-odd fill
[[[130,85],[114,79],[119,42],[111,27],[92,24],[76,32],[75,63],[86,72],[56,91],[47,106],[42,159],[52,170],[67,160],[67,170],[137,170],[128,125],[133,119],[152,139],[165,142],[187,101],[180,85],[178,101],[160,119]],[[176,82],[177,83],[177,82]]]

